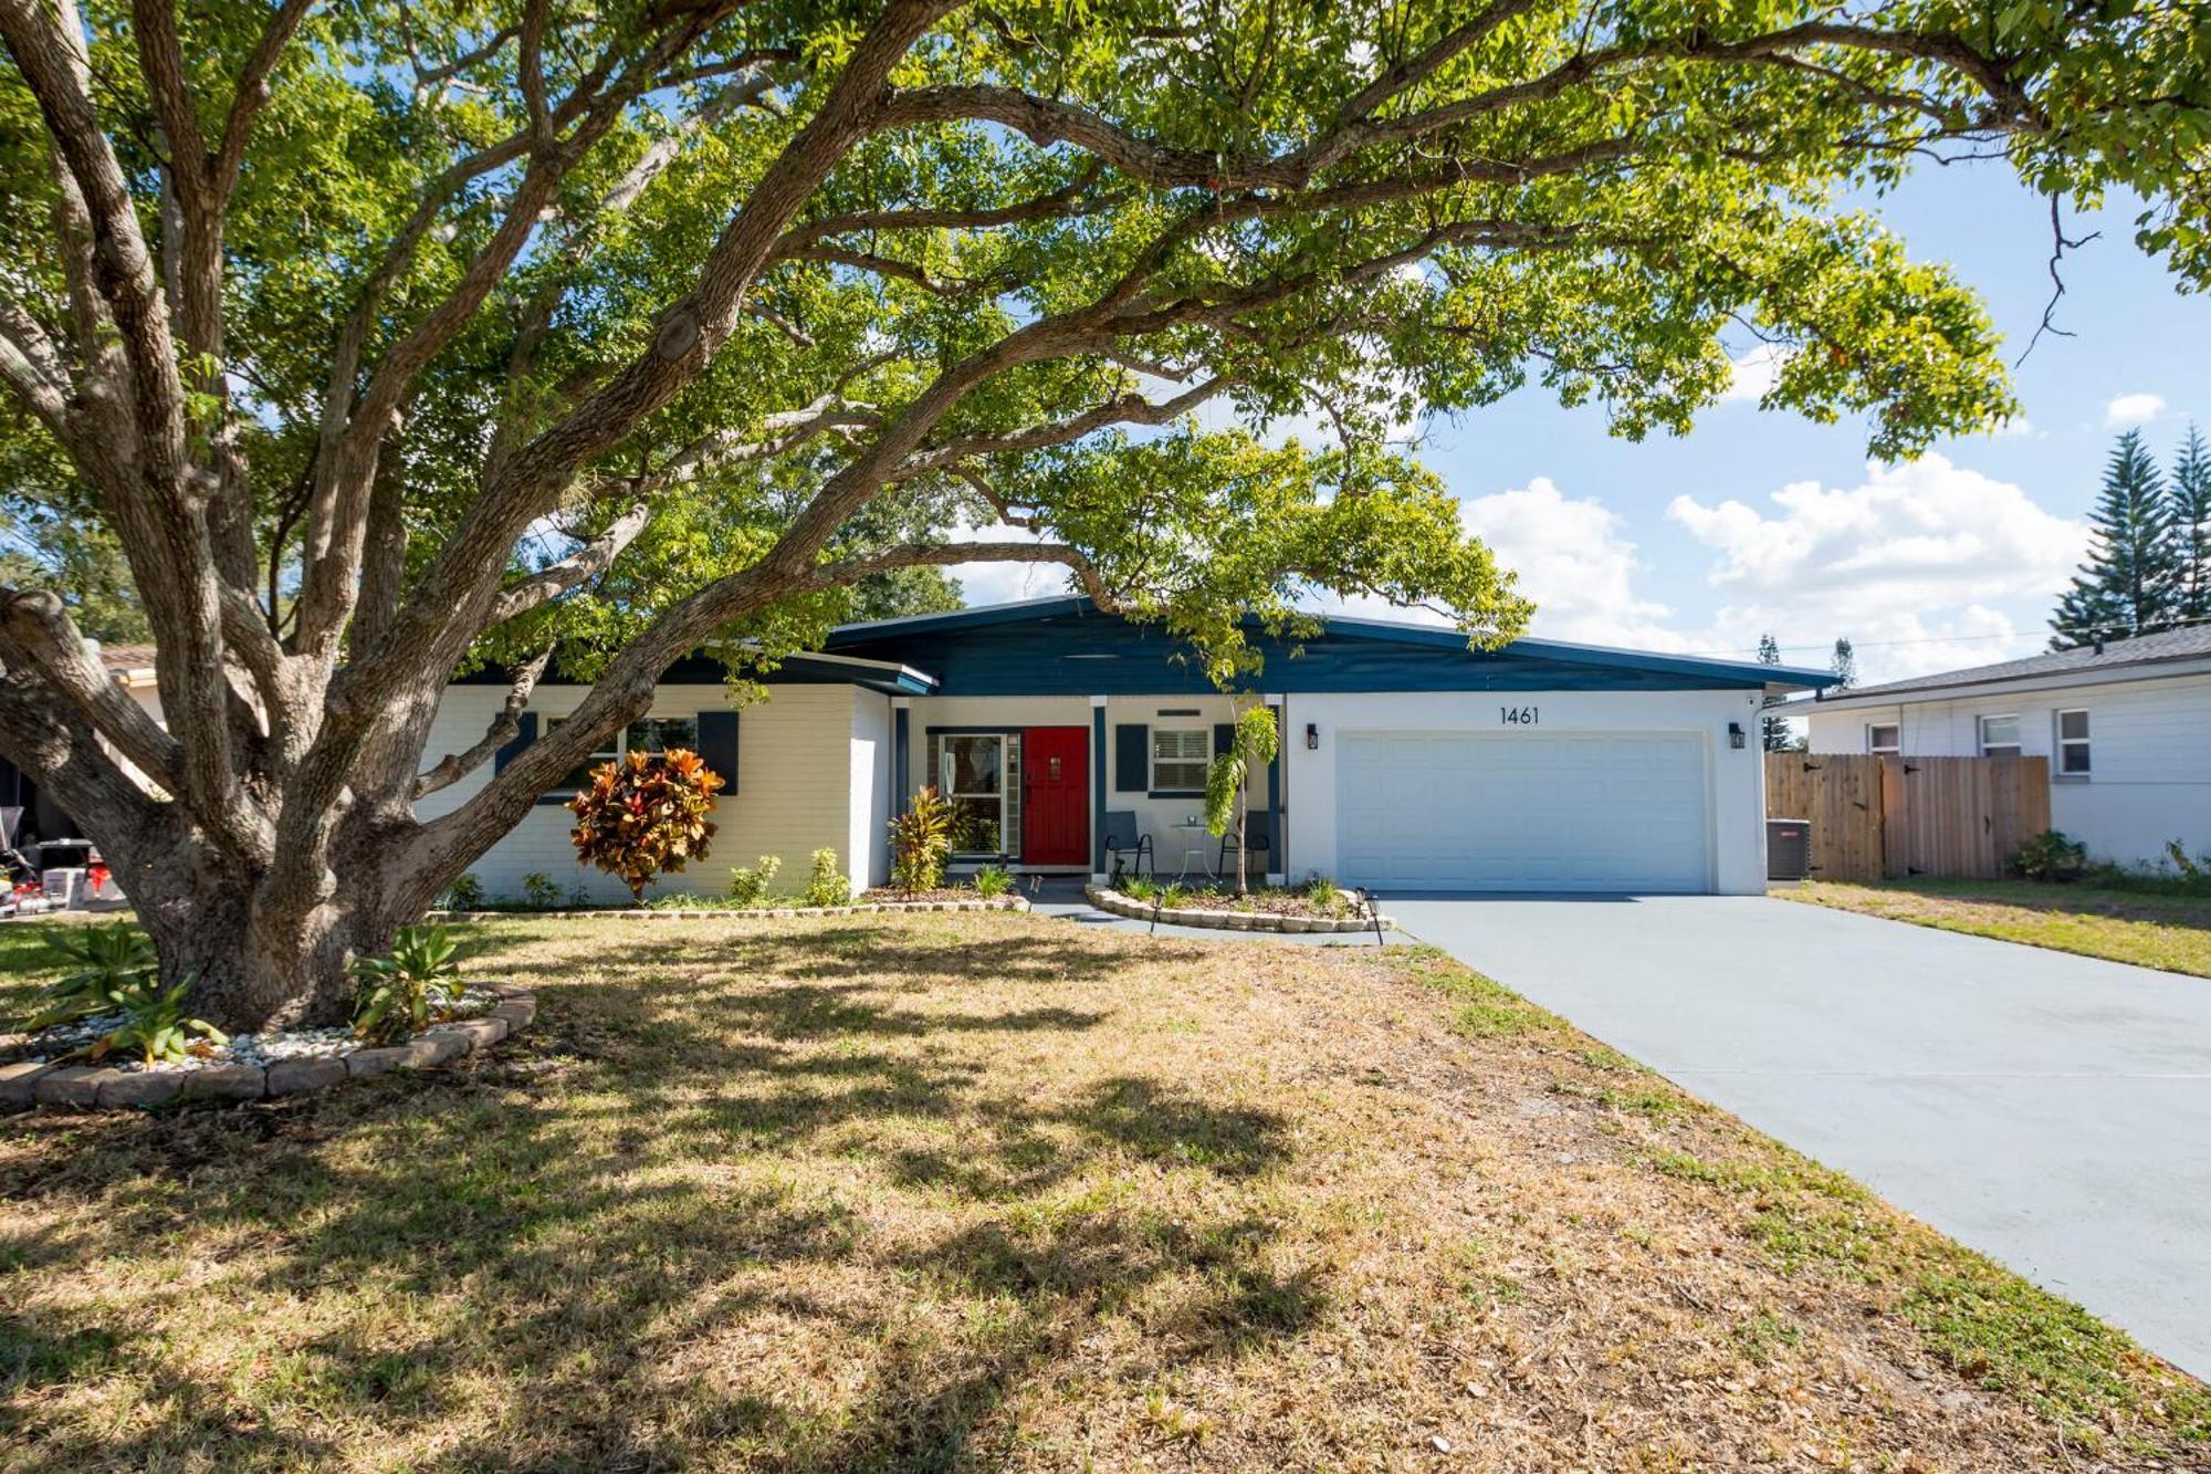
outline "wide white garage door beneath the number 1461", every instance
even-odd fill
[[[1696,733],[1344,733],[1335,863],[1391,890],[1709,890]]]

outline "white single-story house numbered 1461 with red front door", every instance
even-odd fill
[[[1329,874],[1393,890],[1764,890],[1760,706],[1828,679],[1744,662],[1517,640],[1468,651],[1448,629],[1331,617],[1289,644],[1254,635],[1249,699],[1276,708],[1282,752],[1251,786],[1274,879]],[[955,870],[1090,874],[1108,839],[1152,841],[1161,874],[1209,870],[1205,770],[1236,704],[1165,629],[1048,598],[851,624],[734,710],[719,664],[674,666],[628,746],[694,746],[723,777],[712,861],[661,890],[719,890],[730,865],[783,861],[803,881],[834,848],[856,887],[889,876],[889,821],[922,786],[955,808]],[[548,679],[517,744],[584,686]],[[471,746],[504,697],[455,682],[429,752]],[[442,812],[484,770],[429,795]],[[575,865],[566,792],[546,795],[475,865],[491,894],[544,872],[621,896]]]

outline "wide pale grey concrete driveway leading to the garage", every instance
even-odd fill
[[[1762,896],[1386,907],[2211,1377],[2211,980]]]

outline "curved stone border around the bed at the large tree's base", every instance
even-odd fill
[[[181,1100],[274,1100],[305,1096],[343,1080],[365,1080],[394,1069],[433,1069],[464,1053],[491,1049],[531,1027],[537,994],[500,989],[500,1000],[475,1018],[422,1029],[405,1045],[316,1053],[270,1065],[212,1065],[208,1069],[115,1069],[113,1065],[0,1065],[0,1109],[57,1104],[80,1111],[161,1107]]]

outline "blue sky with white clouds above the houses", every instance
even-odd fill
[[[2050,301],[2047,201],[2001,166],[1928,168],[1873,201],[1921,259],[1950,261],[1990,305],[2005,356]],[[1749,655],[1773,631],[1791,662],[1835,635],[1866,679],[2036,651],[2087,544],[2112,438],[2140,425],[2160,458],[2193,416],[2211,432],[2211,299],[2178,292],[2134,246],[2134,208],[2067,212],[2058,325],[2016,370],[2025,421],[1901,467],[1866,463],[1864,427],[1811,425],[1742,396],[1687,436],[1641,445],[1594,409],[1526,390],[1426,425],[1422,458],[1461,498],[1559,640]],[[962,569],[971,602],[1050,593],[1044,571]]]

